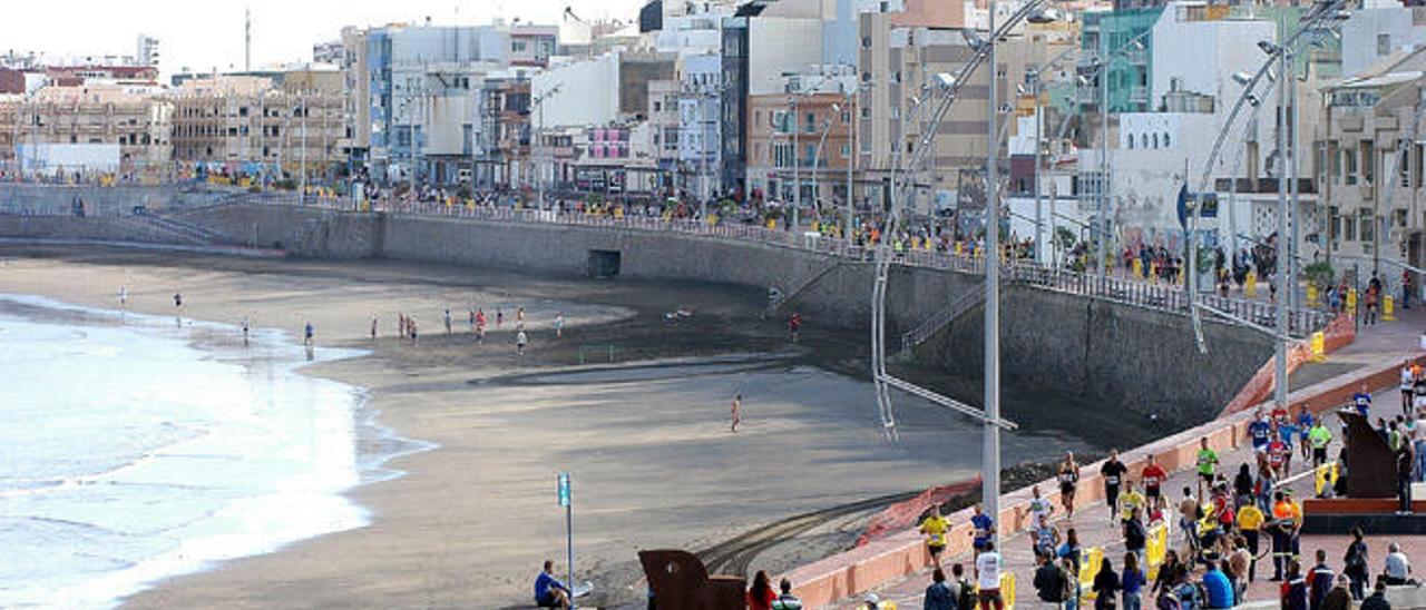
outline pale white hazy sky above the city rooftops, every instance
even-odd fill
[[[242,67],[242,11],[252,11],[252,66],[309,60],[342,26],[392,21],[486,24],[492,17],[556,23],[565,6],[583,19],[637,19],[643,0],[4,0],[0,54],[134,53],[140,33],[161,38],[163,71]]]

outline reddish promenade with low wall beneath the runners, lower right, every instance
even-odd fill
[[[1406,358],[1422,359],[1423,352],[1419,341],[1423,331],[1426,331],[1426,309],[1420,308],[1399,312],[1396,322],[1362,326],[1356,341],[1333,352],[1326,362],[1306,363],[1298,369],[1292,381],[1302,383],[1302,386],[1292,389],[1289,403],[1293,406],[1306,403],[1316,413],[1332,413],[1338,406],[1345,405],[1360,385],[1366,383],[1372,388],[1380,412],[1383,415],[1395,413],[1397,371]],[[1291,382],[1289,388],[1292,388]],[[1171,506],[1165,519],[1169,524],[1171,549],[1181,547],[1184,543],[1182,534],[1178,532],[1178,519],[1172,515],[1172,506],[1176,506],[1178,500],[1184,497],[1182,489],[1185,486],[1196,489],[1192,466],[1198,440],[1206,438],[1209,445],[1218,450],[1219,472],[1232,476],[1238,472],[1239,465],[1249,463],[1252,467],[1256,462],[1246,433],[1246,423],[1251,418],[1252,409],[1226,413],[1195,429],[1144,448],[1121,452],[1119,458],[1128,466],[1128,477],[1137,483],[1142,480],[1139,472],[1149,455],[1154,455],[1158,463],[1169,470],[1169,480],[1164,490]],[[1339,429],[1335,418],[1329,416],[1329,428]],[[1336,455],[1339,442],[1340,439],[1333,440],[1329,455]],[[1057,485],[1052,480],[1045,480],[1038,486],[1042,496],[1055,506],[1055,527],[1061,533],[1068,527],[1075,527],[1084,549],[1102,549],[1104,556],[1112,559],[1114,566],[1118,567],[1122,564],[1124,543],[1118,523],[1111,520],[1109,510],[1104,505],[1104,489],[1098,475],[1101,463],[1082,466],[1072,520],[1065,517],[1064,507],[1060,506]],[[1303,467],[1299,458],[1295,462],[1293,473],[1301,472]],[[1291,489],[1296,492],[1298,497],[1310,497],[1313,483],[1313,476],[1306,475],[1291,483]],[[1002,512],[997,522],[1001,530],[1001,552],[1007,562],[1007,570],[1015,574],[1017,606],[1051,606],[1035,597],[1031,584],[1035,562],[1027,530],[1030,526],[1030,489],[1020,489],[1001,499]],[[970,570],[973,564],[970,512],[963,510],[950,515],[948,519],[953,524],[947,550],[950,559],[943,557],[943,564],[964,563]],[[1419,557],[1422,552],[1426,552],[1426,537],[1393,537],[1392,540],[1400,542],[1407,549],[1409,556]],[[1387,540],[1372,537],[1368,543],[1373,557],[1370,569],[1373,573],[1380,572],[1379,562],[1386,554]],[[1340,569],[1346,536],[1303,536],[1305,562],[1319,547],[1325,549],[1329,562]],[[1412,554],[1412,549],[1416,549],[1416,554]],[[898,607],[920,607],[921,596],[931,581],[928,566],[930,557],[923,537],[914,530],[906,530],[783,576],[793,580],[797,593],[813,607],[853,609],[866,593],[877,593],[883,600],[894,601]],[[897,574],[898,570],[901,574]],[[1265,580],[1271,577],[1271,563],[1268,566],[1259,563],[1259,579],[1248,591],[1249,601],[1276,600],[1278,583]]]

